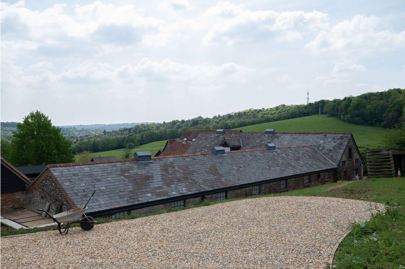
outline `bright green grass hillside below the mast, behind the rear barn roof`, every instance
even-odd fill
[[[283,121],[273,121],[240,127],[245,132],[264,132],[274,129],[276,132],[350,132],[357,146],[377,145],[381,138],[379,132],[384,128],[347,123],[326,115],[307,116]]]

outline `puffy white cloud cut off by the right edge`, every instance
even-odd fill
[[[350,21],[339,22],[330,30],[321,31],[305,47],[312,54],[337,52],[343,55],[405,47],[405,31],[398,34],[390,30],[378,31],[379,22],[375,16],[356,15]]]

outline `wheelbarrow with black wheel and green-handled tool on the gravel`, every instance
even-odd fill
[[[49,214],[49,212],[47,212],[46,210],[43,209],[37,210],[40,212],[45,212],[48,216],[51,217],[51,219],[53,219],[54,222],[58,223],[58,230],[61,235],[66,235],[68,233],[70,225],[72,225],[72,223],[80,223],[80,228],[82,230],[90,231],[91,229],[93,229],[94,225],[96,224],[96,221],[94,220],[94,218],[86,216],[84,212],[88,208],[87,204],[90,202],[90,199],[92,199],[95,192],[96,191],[93,191],[92,196],[90,196],[87,203],[81,208],[75,208],[53,216]],[[66,228],[64,229],[64,231],[62,231],[63,228],[61,228],[61,225],[64,223],[66,223]]]

